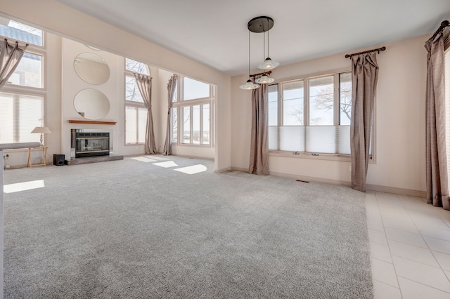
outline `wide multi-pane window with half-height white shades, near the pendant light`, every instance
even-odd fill
[[[350,72],[269,86],[269,150],[350,154]]]

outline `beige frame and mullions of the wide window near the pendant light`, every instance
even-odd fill
[[[303,125],[302,126],[311,126],[309,125],[309,80],[316,79],[321,77],[329,77],[333,76],[333,126],[349,126],[349,125],[340,125],[340,74],[352,72],[348,67],[333,69],[328,72],[317,72],[313,74],[306,74],[302,77],[292,77],[288,79],[281,79],[274,81],[272,85],[278,85],[277,93],[278,93],[278,113],[277,113],[277,128],[283,125],[283,84],[288,84],[295,81],[303,81]],[[371,146],[371,156],[369,157],[369,163],[375,163],[375,112],[376,112],[376,100],[374,103],[373,109],[373,124],[372,124],[372,146]],[[291,125],[294,126],[294,125]],[[319,125],[320,126],[320,125]],[[270,126],[268,126],[270,127]],[[273,127],[273,126],[272,126]],[[350,161],[350,154],[338,154],[338,153],[316,153],[316,152],[307,152],[307,144],[305,140],[305,151],[304,152],[295,152],[293,154],[292,151],[288,150],[279,150],[279,135],[278,135],[278,149],[277,150],[269,150],[270,156],[278,156],[278,157],[295,157],[295,158],[305,158],[305,159],[323,159],[323,160],[334,160],[334,161]],[[338,145],[336,145],[338,146]]]

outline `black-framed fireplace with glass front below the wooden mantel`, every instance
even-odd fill
[[[110,133],[75,132],[75,158],[109,156]]]

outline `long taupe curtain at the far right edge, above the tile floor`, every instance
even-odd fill
[[[427,202],[450,210],[446,171],[444,39],[442,33],[425,42],[427,58],[426,93],[426,182]]]

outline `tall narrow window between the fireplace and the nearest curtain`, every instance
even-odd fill
[[[136,83],[134,73],[149,75],[148,66],[142,62],[125,58],[125,144],[146,142],[147,108]]]

